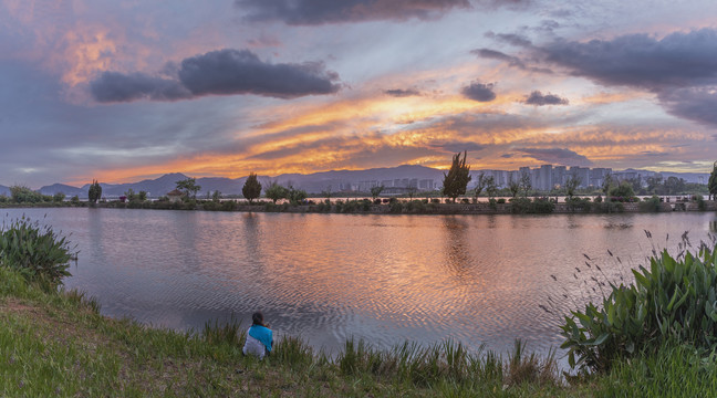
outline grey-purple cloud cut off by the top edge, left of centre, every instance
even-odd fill
[[[468,0],[236,0],[250,21],[282,21],[291,25],[408,19],[430,20]]]

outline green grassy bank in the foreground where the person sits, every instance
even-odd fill
[[[106,318],[82,294],[46,293],[0,266],[0,396],[717,396],[714,356],[683,346],[567,385],[551,358],[520,345],[502,358],[450,343],[382,352],[349,341],[329,360],[290,338],[259,362],[241,356],[241,329],[216,325],[199,336]]]

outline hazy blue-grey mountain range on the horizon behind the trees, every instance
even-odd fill
[[[472,170],[470,174],[474,180],[481,170]],[[624,171],[635,171],[644,175],[652,175],[652,171],[627,169]],[[684,178],[688,182],[703,182],[709,178],[708,174],[700,172],[661,172],[663,178],[678,177]],[[434,180],[437,185],[443,180],[444,171],[425,166],[404,165],[388,168],[373,168],[366,170],[332,170],[323,172],[314,172],[309,175],[301,174],[284,174],[277,177],[258,176],[262,186],[267,187],[271,181],[277,181],[283,186],[292,185],[293,187],[304,189],[310,193],[318,193],[331,187],[331,190],[337,192],[350,184],[357,184],[361,181],[386,181],[395,179],[418,179],[418,180]],[[102,186],[102,195],[104,197],[119,197],[125,195],[126,191],[133,189],[135,192],[146,191],[149,197],[160,197],[175,189],[177,181],[187,179],[188,177],[180,172],[173,172],[164,175],[157,179],[145,179],[138,182],[126,184],[104,184]],[[224,195],[241,195],[247,177],[241,178],[226,178],[226,177],[201,177],[197,178],[197,185],[201,187],[198,196],[206,196],[216,190]],[[64,184],[53,184],[44,186],[39,189],[43,195],[55,195],[62,192],[67,197],[79,196],[86,198],[90,184],[82,187],[73,187]],[[0,195],[10,195],[10,188],[0,185]]]

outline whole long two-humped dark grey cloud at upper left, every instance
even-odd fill
[[[181,61],[178,80],[141,73],[105,72],[90,83],[93,97],[103,103],[139,98],[174,101],[204,95],[254,94],[278,98],[331,94],[339,75],[323,64],[271,64],[248,50],[220,50]]]

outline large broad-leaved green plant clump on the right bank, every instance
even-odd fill
[[[686,237],[683,240],[688,243]],[[680,260],[682,256],[682,260]],[[655,352],[669,342],[710,348],[717,344],[717,245],[698,254],[667,250],[633,270],[628,286],[611,283],[599,307],[573,311],[560,326],[571,367],[607,370],[616,359]]]

